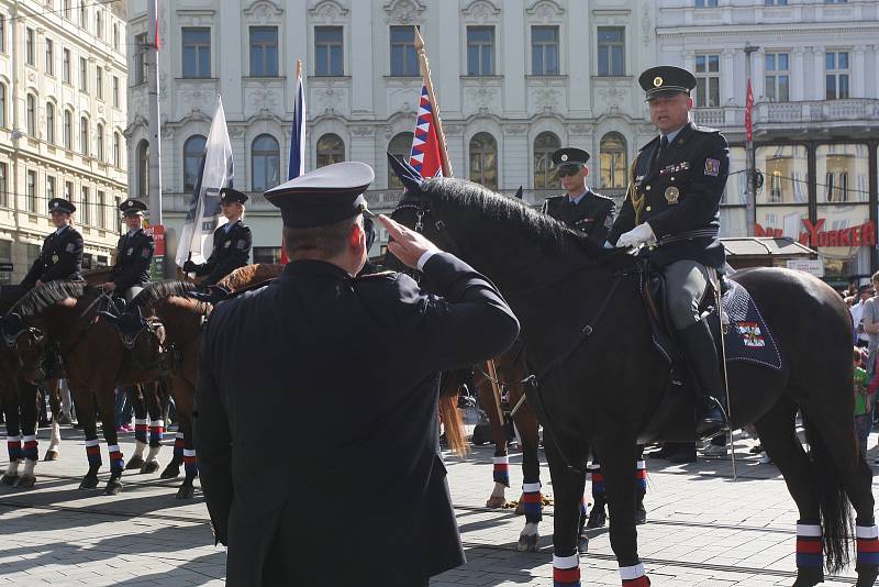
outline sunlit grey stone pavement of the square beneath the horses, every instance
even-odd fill
[[[191,501],[175,499],[179,479],[160,480],[157,474],[126,474],[123,492],[114,497],[79,490],[87,468],[82,434],[66,428],[63,438],[60,461],[37,465],[36,488],[0,487],[0,586],[223,584],[225,553],[213,545],[199,491]],[[43,451],[46,431],[40,439]],[[121,445],[131,455],[132,434],[123,434]],[[649,522],[638,528],[638,538],[653,585],[792,585],[797,512],[778,470],[747,454],[750,445],[748,440],[736,443],[736,481],[728,459],[648,462]],[[102,445],[104,463],[105,450]],[[163,448],[163,462],[170,452],[170,446]],[[446,456],[469,562],[431,585],[552,586],[552,507],[541,524],[539,551],[518,553],[523,518],[482,507],[492,487],[491,455],[491,447],[479,446],[466,458]],[[522,480],[520,462],[514,453],[514,488]],[[552,494],[548,469],[543,466],[541,473],[544,492]],[[101,476],[102,483],[107,477]],[[509,490],[508,499],[518,494]],[[620,585],[607,529],[592,531],[581,569],[585,587]],[[825,585],[854,585],[853,577],[849,568]]]

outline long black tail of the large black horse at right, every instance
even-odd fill
[[[831,574],[836,574],[848,565],[848,543],[853,533],[852,508],[827,445],[817,428],[805,416],[803,428],[817,477],[825,565]]]

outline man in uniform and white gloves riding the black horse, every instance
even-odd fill
[[[716,433],[726,427],[720,407],[726,390],[699,304],[709,292],[710,274],[724,264],[717,233],[730,151],[719,131],[690,120],[696,87],[690,71],[653,67],[638,82],[659,135],[634,163],[628,197],[608,241],[621,247],[649,245],[652,263],[665,275],[669,318],[705,399],[697,432]]]

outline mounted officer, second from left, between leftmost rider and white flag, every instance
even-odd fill
[[[101,287],[131,301],[149,283],[149,264],[156,252],[156,243],[152,234],[144,232],[144,202],[129,199],[119,204],[119,210],[129,231],[119,237],[110,280]]]

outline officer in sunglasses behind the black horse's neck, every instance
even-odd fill
[[[581,148],[559,148],[553,153],[553,164],[567,193],[547,198],[541,211],[572,230],[585,232],[601,244],[613,224],[615,207],[611,198],[596,193],[586,186],[588,160],[589,153]]]

